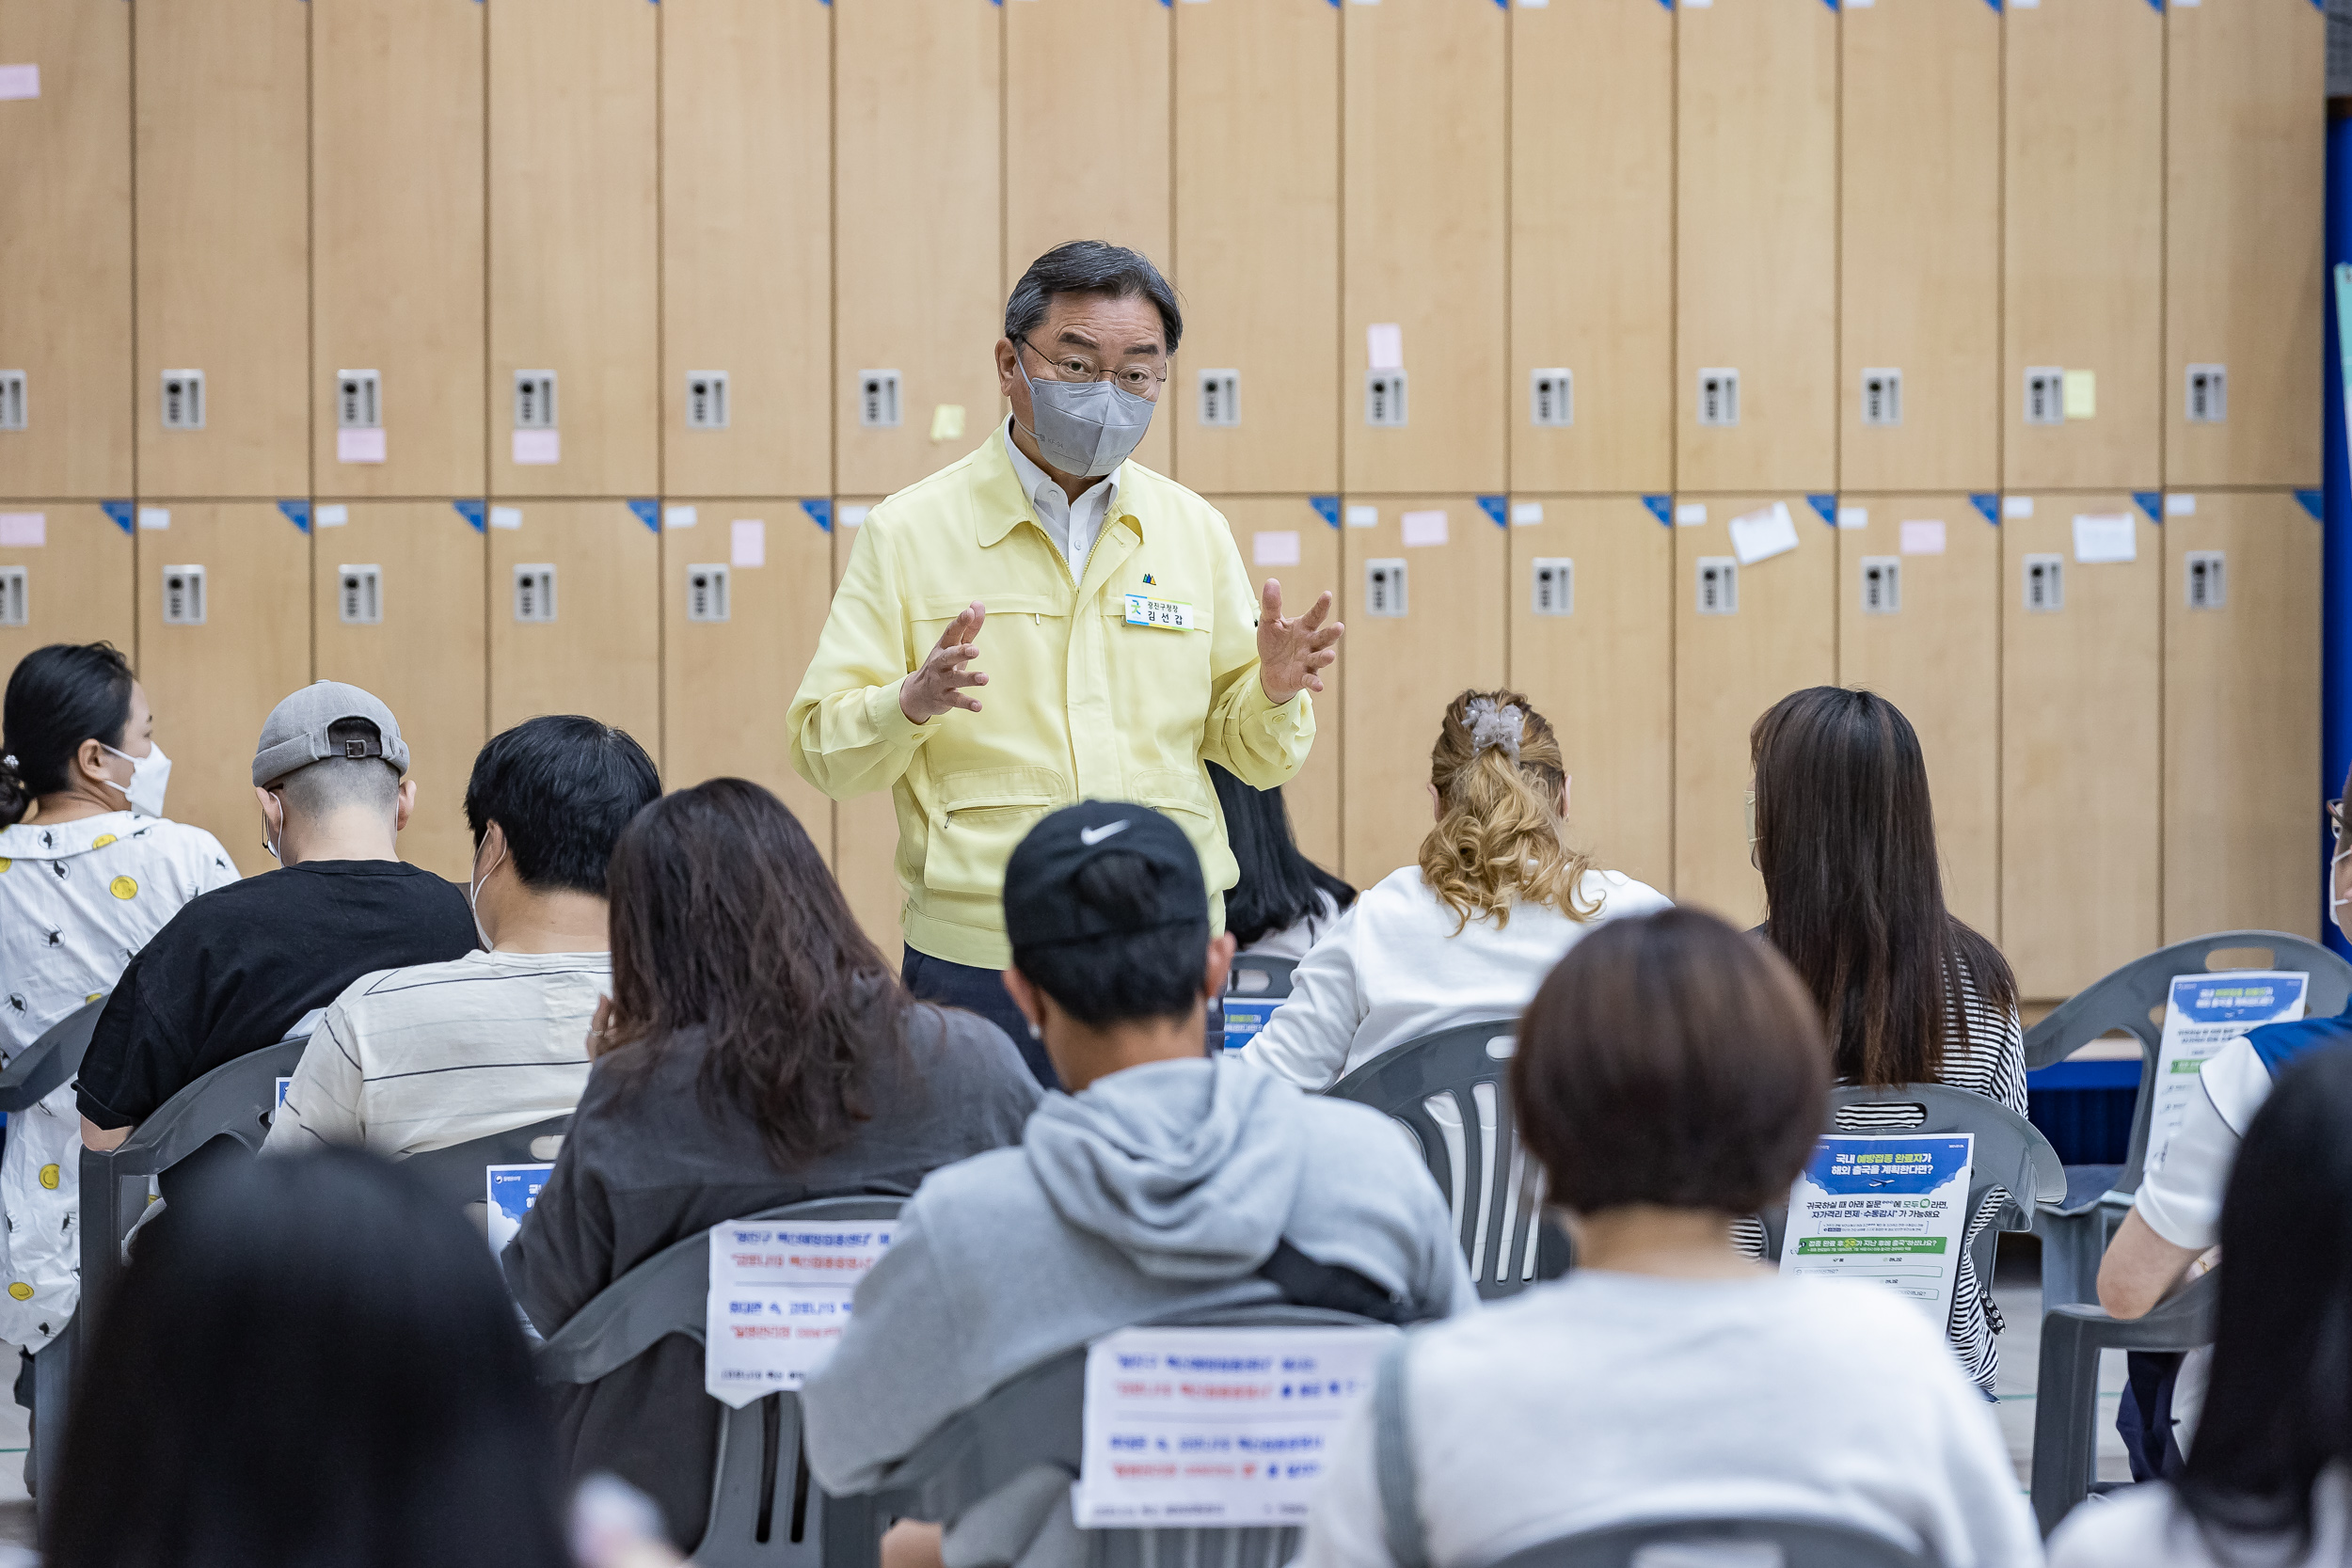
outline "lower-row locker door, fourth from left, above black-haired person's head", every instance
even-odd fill
[[[652,501],[492,508],[492,733],[541,712],[586,712],[661,755],[659,522]],[[524,567],[553,569],[555,592]]]

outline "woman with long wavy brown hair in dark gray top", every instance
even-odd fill
[[[543,1335],[687,1237],[821,1197],[913,1194],[938,1166],[1021,1143],[1037,1081],[993,1023],[915,1001],[858,931],[816,844],[741,778],[677,790],[607,872],[612,1001],[588,1091],[506,1279]],[[720,1403],[670,1335],[557,1392],[574,1476],[619,1474],[691,1552]]]

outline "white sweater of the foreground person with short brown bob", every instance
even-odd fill
[[[1860,1281],[1576,1269],[1414,1333],[1406,1446],[1432,1568],[1682,1516],[1835,1521],[1938,1568],[2032,1568],[1992,1406]],[[1390,1568],[1371,1401],[1294,1568]]]

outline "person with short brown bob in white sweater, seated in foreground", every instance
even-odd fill
[[[1418,1328],[1388,1519],[1376,1401],[1350,1418],[1301,1568],[1475,1568],[1623,1523],[1750,1516],[1884,1535],[1938,1568],[2042,1559],[1992,1410],[1893,1291],[1780,1276],[1733,1215],[1788,1197],[1830,1053],[1804,985],[1712,914],[1595,931],[1519,1023],[1510,1098],[1576,1269]],[[1392,1429],[1395,1432],[1395,1429]]]

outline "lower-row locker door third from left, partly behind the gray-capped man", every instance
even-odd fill
[[[473,865],[466,780],[489,738],[482,512],[466,505],[362,501],[310,510],[318,679],[374,691],[400,719],[416,780],[400,858],[452,882]]]

